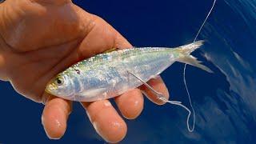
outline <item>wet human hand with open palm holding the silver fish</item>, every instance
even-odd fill
[[[34,102],[46,104],[42,124],[49,138],[61,138],[72,102],[45,93],[46,83],[62,70],[113,47],[129,48],[107,22],[70,0],[6,0],[0,4],[0,79]],[[161,78],[149,82],[169,97]],[[140,87],[158,104],[154,94]],[[137,118],[143,109],[142,92],[131,90],[114,98],[122,116]],[[126,123],[108,100],[81,102],[90,122],[107,142],[126,135]]]

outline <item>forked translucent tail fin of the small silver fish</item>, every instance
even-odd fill
[[[191,66],[196,66],[202,70],[206,70],[209,73],[213,73],[210,68],[208,68],[207,66],[203,66],[197,58],[194,58],[194,56],[190,55],[194,50],[197,50],[200,46],[202,46],[203,42],[204,41],[198,41],[185,46],[181,46],[178,50],[180,50],[182,56],[178,58],[178,62],[183,62]]]

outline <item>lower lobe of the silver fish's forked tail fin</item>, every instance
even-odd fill
[[[191,66],[195,66],[195,67],[198,67],[202,70],[206,70],[208,73],[214,73],[212,70],[210,70],[210,68],[208,68],[207,66],[203,66],[201,64],[201,61],[198,61],[197,58],[194,58],[192,55],[188,55],[188,56],[185,56],[185,57],[182,57],[182,58],[179,58],[178,59],[178,62],[183,62],[183,63],[186,63],[186,64],[189,64]]]

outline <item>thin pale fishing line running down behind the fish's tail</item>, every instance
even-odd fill
[[[197,33],[197,35],[196,35],[195,38],[194,38],[194,42],[197,40],[198,35],[199,35],[200,32],[202,31],[203,26],[205,26],[207,19],[209,18],[211,12],[214,10],[215,3],[216,3],[216,0],[214,0],[214,3],[213,3],[213,5],[212,5],[211,8],[210,8],[209,13],[207,14],[205,21],[202,23],[202,26],[201,26],[200,29],[198,30],[198,33]],[[189,118],[187,119],[187,124],[188,124],[187,127],[188,127],[188,130],[189,130],[190,132],[193,132],[193,131],[194,131],[194,124],[195,124],[195,113],[194,113],[194,107],[193,107],[193,105],[192,105],[191,98],[190,98],[190,91],[188,90],[188,87],[187,87],[187,84],[186,84],[186,65],[187,65],[187,64],[185,64],[184,70],[183,70],[183,82],[184,82],[184,85],[185,85],[185,88],[186,88],[186,94],[188,95],[188,98],[189,98],[189,101],[190,101],[191,110],[193,111],[193,125],[192,125],[192,129],[190,129],[190,125],[189,125],[189,123],[188,123],[189,118],[190,118],[190,110],[189,110]]]

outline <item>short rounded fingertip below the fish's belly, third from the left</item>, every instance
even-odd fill
[[[137,118],[142,113],[144,98],[139,89],[130,90],[114,100],[122,115],[127,119]]]

